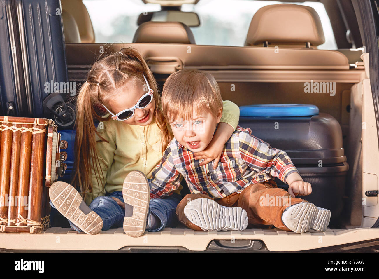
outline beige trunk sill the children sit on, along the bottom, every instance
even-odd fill
[[[269,251],[302,251],[379,238],[379,228],[352,228],[302,234],[277,229],[247,229],[243,232],[196,232],[191,229],[166,228],[161,232],[145,233],[133,238],[122,228],[110,229],[98,235],[86,235],[74,230],[50,228],[44,233],[1,233],[3,249],[54,250],[118,250],[127,246],[185,247],[204,251],[212,240],[262,240]]]

